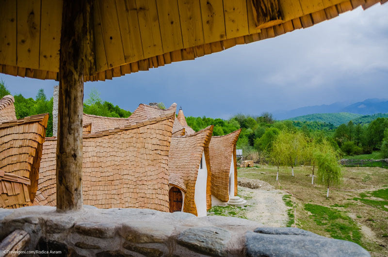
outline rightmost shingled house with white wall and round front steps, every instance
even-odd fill
[[[211,203],[242,203],[237,196],[236,143],[241,129],[224,136],[212,136],[209,145],[211,165]],[[229,201],[230,200],[230,201]]]

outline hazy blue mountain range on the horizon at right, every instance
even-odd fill
[[[388,99],[370,98],[362,102],[349,104],[349,102],[335,102],[333,104],[314,105],[297,108],[291,111],[274,112],[277,120],[291,119],[313,113],[337,113],[349,112],[361,115],[372,115],[376,113],[388,112]],[[361,116],[360,115],[360,116]]]

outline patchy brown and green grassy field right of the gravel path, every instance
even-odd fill
[[[330,189],[311,185],[309,167],[281,167],[279,183],[276,167],[241,168],[239,177],[260,179],[285,191],[290,222],[336,239],[354,241],[371,252],[372,256],[388,256],[388,171],[381,168],[346,167],[343,183]],[[294,216],[295,215],[295,216]]]

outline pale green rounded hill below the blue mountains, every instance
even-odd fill
[[[334,126],[339,126],[343,123],[348,123],[350,120],[354,120],[358,117],[361,117],[361,114],[349,113],[349,112],[339,112],[339,113],[314,113],[307,114],[303,116],[298,116],[291,118],[289,120],[293,121],[318,121],[331,123]]]

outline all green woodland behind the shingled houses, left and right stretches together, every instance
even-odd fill
[[[4,81],[0,81],[0,97],[10,95]],[[35,98],[25,98],[21,94],[14,95],[16,117],[18,119],[39,113],[49,113],[46,136],[52,136],[52,97],[48,98],[40,89]],[[163,103],[160,103],[163,107]],[[131,112],[121,109],[108,101],[103,101],[99,92],[93,89],[84,101],[83,111],[106,117],[127,118]],[[269,112],[259,116],[236,114],[230,119],[210,117],[186,117],[187,124],[195,131],[214,125],[213,135],[220,136],[242,128],[237,147],[243,149],[244,155],[256,153],[269,156],[279,134],[286,131],[302,133],[307,142],[322,142],[332,146],[338,157],[345,155],[371,154],[381,151],[388,158],[388,118],[375,118],[369,124],[349,121],[338,127],[331,123],[319,121],[277,121]]]

